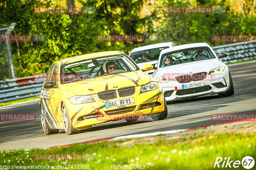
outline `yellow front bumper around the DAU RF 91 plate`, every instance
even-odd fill
[[[100,100],[98,94],[91,95],[96,102],[72,104],[66,99],[64,103],[67,106],[68,114],[74,128],[118,120],[127,116],[140,116],[164,111],[164,93],[161,87],[144,93],[140,93],[140,89],[141,86],[137,86],[135,87],[135,93],[131,96],[117,96],[115,99],[108,100],[115,101],[133,97],[134,104],[108,109],[105,107],[106,101]],[[98,113],[95,112],[95,109],[98,109]]]

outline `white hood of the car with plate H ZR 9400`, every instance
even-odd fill
[[[193,61],[188,63],[182,63],[167,67],[157,68],[157,71],[154,72],[153,77],[162,77],[163,74],[174,73],[174,74],[194,74],[200,72],[211,71],[214,68],[220,67],[220,60],[218,59],[208,59]],[[190,73],[192,72],[192,73]]]

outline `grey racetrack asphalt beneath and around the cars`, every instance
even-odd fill
[[[42,130],[38,100],[0,107],[3,113],[33,113],[35,121],[0,121],[0,150],[44,148],[87,142],[123,135],[190,129],[225,122],[212,121],[212,114],[256,114],[256,62],[228,65],[235,95],[218,95],[183,99],[168,103],[168,117],[164,120],[97,124],[86,132],[67,135],[64,130],[46,136]]]

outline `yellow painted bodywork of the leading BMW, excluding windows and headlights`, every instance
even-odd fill
[[[100,77],[89,78],[82,81],[61,84],[61,76],[59,76],[61,75],[61,65],[101,56],[120,54],[122,53],[117,51],[85,54],[56,61],[53,63],[53,65],[55,65],[54,67],[58,67],[57,87],[54,87],[52,89],[45,89],[43,87],[39,102],[40,107],[42,107],[44,110],[44,115],[47,119],[47,123],[49,124],[49,128],[64,129],[61,110],[63,103],[66,105],[68,116],[72,121],[73,127],[78,129],[88,125],[122,119],[127,116],[147,115],[164,111],[164,94],[159,84],[157,89],[141,93],[140,90],[142,85],[145,85],[152,81],[157,82],[156,79],[149,76],[148,74],[143,73],[141,70],[118,74],[109,74]],[[125,54],[125,56],[127,55]],[[122,89],[125,87],[135,87],[135,93],[130,96],[120,97],[118,89]],[[117,97],[110,100],[100,99],[98,93],[109,90],[115,90]],[[68,98],[77,95],[91,95],[95,102],[72,104]],[[131,97],[134,98],[134,104],[116,106],[108,109],[105,107],[105,102],[116,101],[119,99],[126,99]],[[142,108],[143,104],[147,103],[157,103],[157,105]],[[130,107],[132,107],[132,109],[129,110],[129,112],[122,112],[123,108]],[[86,115],[96,114],[95,109],[98,109],[100,117],[81,120],[81,117],[83,116],[86,117]],[[112,114],[107,114],[108,112],[111,112]]]

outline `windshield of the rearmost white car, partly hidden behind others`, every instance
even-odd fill
[[[134,52],[134,53],[131,53],[130,57],[136,63],[143,63],[147,61],[158,60],[161,50],[165,48],[169,48],[169,46]]]

